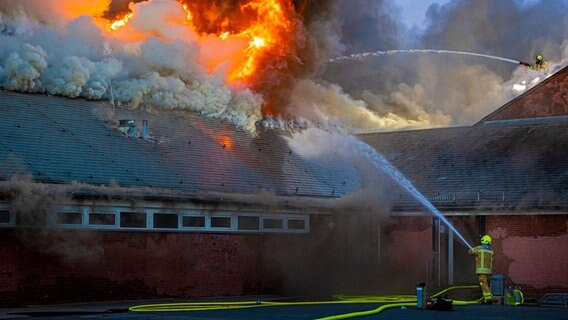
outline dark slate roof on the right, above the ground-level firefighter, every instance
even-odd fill
[[[568,119],[552,117],[359,138],[438,208],[568,205]],[[394,192],[393,206],[417,202]]]

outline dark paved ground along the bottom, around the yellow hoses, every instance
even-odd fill
[[[254,298],[253,298],[254,299]],[[357,311],[372,310],[380,306],[376,303],[332,304],[255,307],[247,309],[217,311],[176,311],[176,312],[129,312],[134,305],[150,303],[171,303],[174,300],[120,301],[80,303],[53,306],[30,306],[26,308],[0,309],[0,319],[317,319]],[[176,301],[177,302],[177,301]],[[354,319],[380,320],[568,320],[568,309],[523,305],[518,307],[503,305],[454,306],[453,311],[419,310],[415,307],[392,308],[378,314]]]

